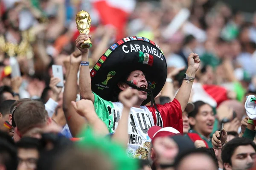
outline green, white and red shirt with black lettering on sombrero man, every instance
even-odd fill
[[[94,107],[99,118],[105,122],[110,133],[114,133],[120,117],[123,105],[121,102],[110,102],[94,94]],[[154,107],[132,107],[128,120],[128,149],[129,156],[139,159],[147,159],[151,139],[148,129],[152,126],[174,127],[183,133],[182,111],[177,99],[164,105],[157,105],[160,113]]]

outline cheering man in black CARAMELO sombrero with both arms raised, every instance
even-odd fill
[[[146,159],[151,142],[147,134],[150,127],[170,126],[183,132],[182,111],[186,108],[195,72],[200,66],[199,56],[194,53],[189,55],[189,67],[175,99],[164,105],[155,105],[154,97],[165,82],[170,83],[169,79],[166,81],[166,59],[160,47],[144,37],[124,38],[114,43],[90,71],[88,49],[80,48],[88,38],[88,35],[80,34],[76,39],[76,47],[82,52],[81,98],[94,102],[97,115],[113,133],[123,109],[122,103],[117,100],[119,92],[127,88],[139,90],[139,100],[130,110],[128,153]],[[150,101],[151,106],[144,106]]]

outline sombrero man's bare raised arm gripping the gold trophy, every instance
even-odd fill
[[[81,43],[88,38],[91,37],[90,35],[80,34],[76,39],[76,47],[82,53],[82,61],[88,62],[88,49],[83,49],[80,47]],[[90,79],[90,69],[89,65],[81,65],[80,68],[80,77],[79,77],[79,90],[82,99],[89,99],[94,102],[94,95],[92,93],[91,88],[91,79]]]

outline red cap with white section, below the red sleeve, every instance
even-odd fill
[[[152,140],[151,143],[153,144],[154,139],[157,137],[163,136],[172,136],[179,134],[180,132],[173,127],[160,127],[160,126],[152,126],[148,129],[148,136]]]

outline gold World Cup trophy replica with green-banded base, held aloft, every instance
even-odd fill
[[[78,31],[84,34],[89,34],[90,32],[90,26],[91,26],[92,20],[90,18],[90,14],[86,11],[80,11],[76,14],[76,27]],[[90,38],[80,45],[81,48],[87,49],[92,47],[92,42],[90,41]]]

